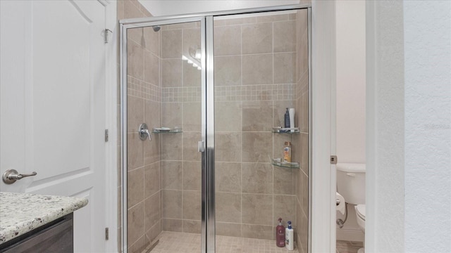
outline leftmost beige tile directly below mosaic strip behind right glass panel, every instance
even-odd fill
[[[242,102],[216,102],[214,106],[216,131],[241,131]]]

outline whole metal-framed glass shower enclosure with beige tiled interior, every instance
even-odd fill
[[[169,232],[222,252],[275,240],[279,217],[309,252],[310,20],[276,6],[120,21],[123,252]]]

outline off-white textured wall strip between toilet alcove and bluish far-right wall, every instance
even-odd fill
[[[366,4],[366,251],[404,252],[403,2]]]

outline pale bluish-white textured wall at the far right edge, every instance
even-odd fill
[[[450,41],[450,1],[404,1],[406,252],[451,252]]]

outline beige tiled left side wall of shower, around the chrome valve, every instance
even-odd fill
[[[118,1],[118,19],[147,16],[152,15],[138,1]],[[160,138],[153,135],[152,141],[141,141],[137,134],[141,123],[147,123],[149,129],[160,125],[159,33],[152,27],[137,28],[129,30],[127,41],[127,238],[129,252],[138,252],[161,232]]]

